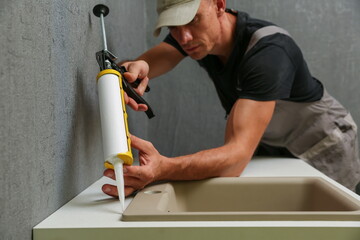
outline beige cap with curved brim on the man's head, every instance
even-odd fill
[[[195,17],[201,0],[195,0],[173,6],[162,11],[158,16],[153,35],[159,36],[162,27],[181,26],[188,24]]]

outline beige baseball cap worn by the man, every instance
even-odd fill
[[[159,36],[162,27],[181,26],[193,20],[201,0],[157,0],[158,21],[154,36]]]

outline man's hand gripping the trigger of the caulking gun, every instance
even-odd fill
[[[140,79],[141,82],[134,90],[140,95],[144,95],[145,89],[149,83],[148,73],[149,65],[143,61],[129,61],[121,64],[127,70],[124,77],[129,83],[135,82]],[[138,104],[134,99],[130,98],[126,93],[124,94],[125,103],[128,104],[135,111],[146,111],[148,107],[145,104]]]

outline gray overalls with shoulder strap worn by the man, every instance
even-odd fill
[[[260,28],[247,51],[274,33],[290,36],[276,26]],[[277,100],[261,142],[288,149],[351,190],[360,180],[357,126],[350,113],[326,91],[316,102]]]

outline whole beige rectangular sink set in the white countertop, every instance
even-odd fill
[[[140,191],[123,221],[360,221],[360,201],[320,177],[168,182]]]

